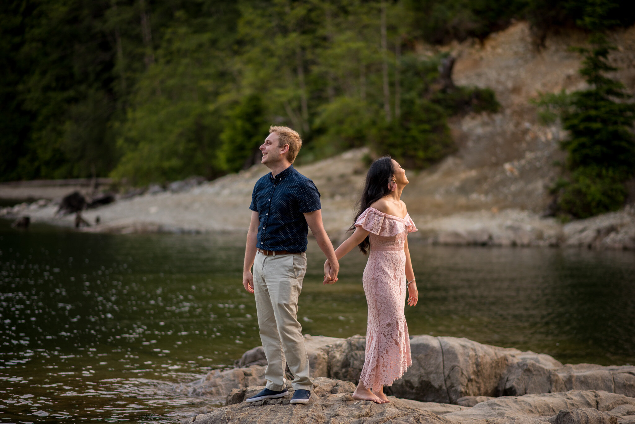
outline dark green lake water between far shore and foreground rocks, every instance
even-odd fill
[[[562,362],[635,364],[635,253],[433,247],[413,240],[410,334],[467,337]],[[173,390],[260,345],[244,235],[95,235],[0,221],[0,423],[171,423],[210,399]],[[308,334],[366,331],[365,257],[321,284],[309,243]],[[212,402],[213,404],[213,402]]]

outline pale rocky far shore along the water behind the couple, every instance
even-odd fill
[[[247,174],[244,172],[243,174]],[[251,174],[259,175],[257,171]],[[231,175],[231,180],[239,179]],[[79,231],[97,233],[205,233],[244,232],[248,226],[248,205],[253,175],[243,175],[241,191],[227,187],[227,179],[189,186],[182,191],[157,190],[109,205],[84,210],[86,224]],[[236,181],[230,181],[236,186]],[[344,239],[352,214],[347,198],[323,199],[326,231],[334,242]],[[59,200],[40,199],[0,208],[0,218],[15,221],[28,216],[43,222],[72,228],[74,214],[58,214]],[[568,223],[519,209],[457,212],[434,217],[411,214],[419,231],[411,237],[433,245],[547,246],[588,249],[635,250],[635,205],[617,212]]]

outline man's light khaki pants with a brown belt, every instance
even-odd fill
[[[302,325],[297,320],[298,297],[306,272],[307,256],[304,253],[279,256],[256,254],[253,291],[260,340],[267,357],[265,379],[269,390],[284,390],[285,363],[295,377],[294,390],[313,388]]]

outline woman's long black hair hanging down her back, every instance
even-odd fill
[[[366,174],[364,191],[362,191],[361,198],[357,203],[358,212],[355,215],[355,219],[353,219],[353,225],[349,229],[355,229],[355,221],[357,221],[359,215],[361,215],[364,210],[391,192],[391,189],[388,188],[388,184],[392,181],[392,175],[394,175],[394,168],[392,167],[392,158],[388,154],[370,165],[368,174]],[[367,236],[363,242],[359,243],[359,250],[365,255],[369,245],[370,238]]]

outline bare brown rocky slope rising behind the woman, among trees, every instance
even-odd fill
[[[559,173],[554,161],[565,158],[558,143],[566,134],[557,125],[539,125],[530,100],[538,92],[584,88],[580,57],[568,47],[582,46],[586,38],[575,31],[552,34],[538,50],[528,23],[517,22],[483,44],[445,46],[457,57],[455,83],[493,89],[502,109],[451,121],[458,152],[410,179],[404,192],[410,209],[426,215],[507,208],[542,212]],[[620,68],[617,77],[634,93],[635,27],[611,38],[618,49],[611,56]]]

